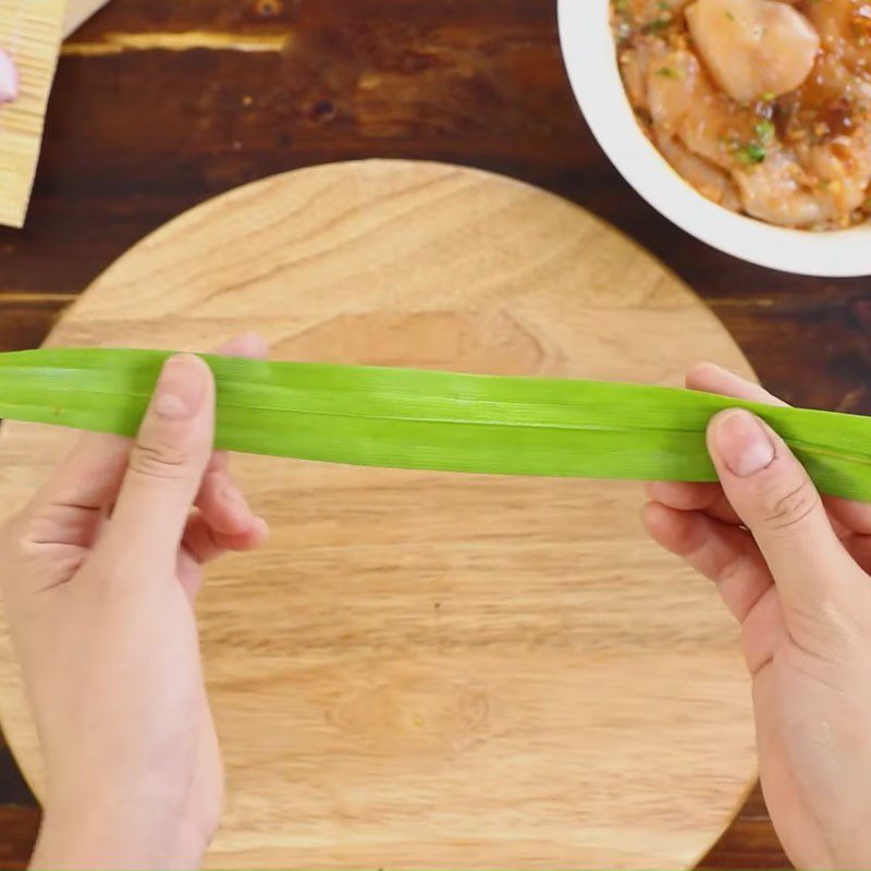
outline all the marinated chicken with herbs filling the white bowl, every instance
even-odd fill
[[[781,226],[871,218],[871,0],[613,3],[639,123],[700,194]]]

